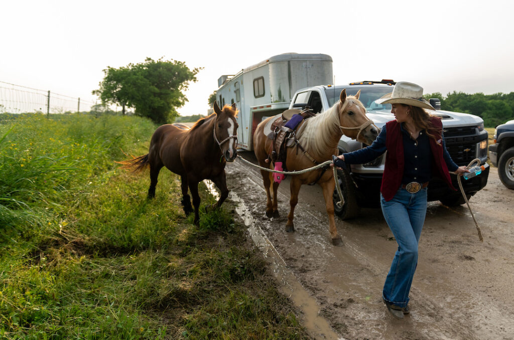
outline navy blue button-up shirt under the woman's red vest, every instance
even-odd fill
[[[409,132],[400,125],[401,137],[403,141],[403,158],[405,166],[403,167],[402,184],[410,182],[425,183],[430,180],[432,173],[432,153],[430,150],[429,136],[425,130],[419,133],[416,140],[412,139]],[[347,164],[363,164],[368,163],[386,152],[386,125],[382,127],[377,139],[368,147],[356,150],[351,153],[344,154],[344,161]],[[443,143],[443,158],[449,171],[455,171],[457,164],[453,162],[446,149],[445,140]]]

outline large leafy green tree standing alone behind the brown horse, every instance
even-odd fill
[[[125,106],[135,109],[137,116],[148,117],[157,124],[173,122],[176,108],[188,100],[182,91],[189,82],[196,82],[201,68],[190,70],[179,61],[157,61],[146,58],[144,63],[126,67],[107,66],[100,88],[93,91],[103,103],[118,104],[125,114]]]

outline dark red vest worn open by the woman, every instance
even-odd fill
[[[436,127],[443,127],[443,123],[437,117],[432,117],[431,122]],[[382,175],[382,185],[380,192],[386,201],[391,200],[398,188],[401,185],[401,179],[403,177],[403,166],[405,161],[403,160],[403,139],[401,137],[400,123],[396,120],[392,120],[386,123],[386,165],[384,167],[384,173]],[[439,143],[442,143],[441,135],[436,134],[436,139]],[[437,145],[433,138],[430,140],[430,150],[432,152],[432,175],[438,176],[446,181],[448,186],[455,190],[451,183],[450,173],[446,162],[443,158],[443,146]]]

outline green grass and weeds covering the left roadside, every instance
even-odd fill
[[[150,121],[2,118],[1,338],[307,338],[227,210],[195,226],[176,175],[148,200],[148,173],[118,168],[146,153]]]

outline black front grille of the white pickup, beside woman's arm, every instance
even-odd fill
[[[446,149],[457,165],[468,165],[476,158],[476,143],[480,142],[476,126],[448,127],[443,131]]]

